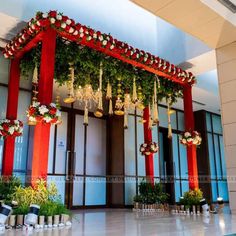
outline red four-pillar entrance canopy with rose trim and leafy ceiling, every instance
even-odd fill
[[[82,91],[81,86],[97,86],[99,115],[104,112],[101,105],[104,92],[109,99],[109,114],[113,111],[112,97],[116,97],[115,114],[125,115],[127,103],[139,109],[144,108],[144,148],[148,146],[151,150],[144,152],[146,175],[152,182],[153,153],[156,147],[152,151],[150,126],[151,123],[158,123],[158,100],[166,98],[168,104],[170,137],[170,106],[178,97],[183,96],[184,100],[185,130],[194,131],[192,85],[195,83],[195,77],[192,73],[148,52],[135,49],[111,35],[76,24],[74,20],[57,11],[37,13],[6,45],[3,54],[11,60],[6,115],[9,120],[17,119],[20,71],[34,68],[36,71],[40,68],[37,99],[46,107],[53,106],[50,104],[55,78],[59,84],[68,84],[70,101],[74,99],[75,88]],[[117,89],[114,90],[114,87]],[[86,109],[85,105],[85,113]],[[124,120],[126,121],[126,117]],[[32,183],[35,178],[47,176],[49,134],[50,122],[37,122],[34,131]],[[4,141],[3,175],[12,174],[14,142],[15,136],[9,136]],[[187,157],[189,186],[191,189],[198,188],[194,143],[187,145]]]

